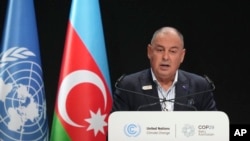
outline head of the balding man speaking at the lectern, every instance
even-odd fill
[[[151,67],[159,81],[174,78],[186,53],[183,36],[173,27],[162,27],[155,31],[147,51]]]

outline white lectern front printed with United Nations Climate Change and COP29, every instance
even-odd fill
[[[119,111],[108,121],[109,141],[229,141],[220,111]]]

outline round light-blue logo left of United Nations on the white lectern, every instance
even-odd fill
[[[128,137],[136,137],[141,133],[141,127],[138,124],[130,123],[124,126],[124,133]]]

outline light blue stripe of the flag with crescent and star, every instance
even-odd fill
[[[99,1],[73,0],[71,9],[75,10],[70,13],[70,22],[92,54],[111,90]]]

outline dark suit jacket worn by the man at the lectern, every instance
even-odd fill
[[[183,70],[179,70],[178,73],[178,81],[175,87],[176,103],[174,104],[174,111],[217,110],[212,92],[192,95],[212,89],[211,84],[205,78]],[[152,85],[152,89],[142,89],[143,86],[147,85]],[[150,69],[126,75],[117,83],[117,87],[126,91],[121,89],[115,90],[112,112],[138,110],[161,111],[157,87],[155,82],[153,82]],[[133,92],[128,92],[127,90]],[[134,92],[138,92],[138,94]]]

